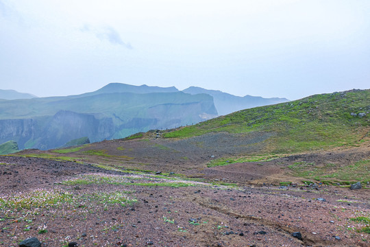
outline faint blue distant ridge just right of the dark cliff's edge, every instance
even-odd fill
[[[227,115],[238,110],[254,108],[257,106],[266,106],[270,104],[284,103],[289,101],[289,99],[279,97],[263,98],[251,95],[239,97],[231,95],[229,93],[223,93],[222,91],[202,89],[197,86],[190,86],[188,89],[184,89],[183,92],[190,93],[192,95],[195,95],[197,93],[206,93],[208,95],[212,95],[214,106],[217,108],[217,112],[219,113],[219,115]]]

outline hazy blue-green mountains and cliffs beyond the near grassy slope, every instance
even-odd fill
[[[221,91],[110,83],[82,95],[0,100],[0,143],[47,150],[82,137],[91,142],[197,124],[217,115],[287,99],[236,97]],[[215,107],[216,106],[216,107]]]

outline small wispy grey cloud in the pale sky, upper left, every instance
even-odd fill
[[[109,43],[112,45],[121,45],[126,47],[127,49],[132,49],[130,43],[123,42],[119,32],[114,30],[113,27],[102,27],[102,28],[94,28],[90,25],[84,25],[84,27],[79,29],[81,32],[90,32],[93,33],[99,40],[108,40]]]

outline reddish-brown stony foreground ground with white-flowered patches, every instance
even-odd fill
[[[362,151],[364,156],[368,150]],[[332,155],[312,158],[319,162]],[[299,158],[309,159],[293,159]],[[281,170],[274,162],[275,166],[264,167],[263,176],[262,167],[253,163],[184,171],[191,176],[201,169],[207,180],[199,182],[88,163],[0,156],[0,246],[18,246],[28,237],[53,247],[71,242],[78,246],[370,245],[366,231],[370,189],[272,186],[274,174]],[[258,183],[249,183],[251,178]]]

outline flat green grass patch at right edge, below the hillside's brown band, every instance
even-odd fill
[[[350,185],[358,181],[362,183],[370,181],[370,160],[356,161],[346,166],[333,163],[318,166],[315,163],[301,161],[288,165],[288,169],[291,169],[293,176],[323,181],[327,184]]]

